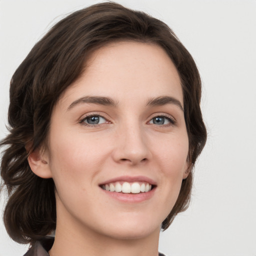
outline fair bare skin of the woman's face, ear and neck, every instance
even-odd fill
[[[116,104],[77,103],[86,96],[111,97]],[[176,102],[146,105],[160,96],[174,98],[181,107]],[[55,105],[49,150],[28,157],[34,173],[52,177],[56,186],[51,256],[157,255],[161,222],[188,175],[182,106],[179,75],[160,46],[125,41],[91,54],[86,70]],[[88,126],[88,114],[103,118]],[[162,115],[163,124],[153,122]],[[118,200],[99,186],[138,175],[156,184],[152,196],[140,202]]]

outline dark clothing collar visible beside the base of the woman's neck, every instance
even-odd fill
[[[49,256],[48,252],[54,242],[54,237],[45,236],[45,239],[36,241],[24,256]],[[158,253],[159,256],[164,256],[162,253]],[[75,256],[75,255],[74,255]]]

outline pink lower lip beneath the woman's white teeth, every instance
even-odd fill
[[[150,191],[148,192],[140,192],[140,193],[122,193],[122,192],[110,192],[107,190],[104,190],[102,188],[100,188],[106,195],[111,196],[119,201],[123,201],[123,202],[142,202],[145,200],[150,199],[153,194],[154,191],[156,189],[156,187],[153,187]]]

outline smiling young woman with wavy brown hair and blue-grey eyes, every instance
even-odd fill
[[[112,2],[60,20],[11,79],[10,237],[31,244],[26,256],[156,256],[160,229],[188,206],[206,140],[200,96],[162,21]]]

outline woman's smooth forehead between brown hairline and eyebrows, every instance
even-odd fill
[[[167,53],[157,44],[134,41],[109,43],[90,53],[83,73],[61,101],[67,104],[86,95],[121,102],[169,95],[183,104],[180,78]]]

